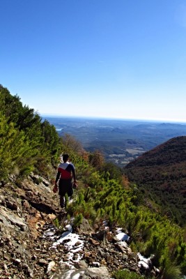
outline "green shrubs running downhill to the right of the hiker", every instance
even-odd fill
[[[175,263],[172,265],[175,278],[180,270],[183,273],[184,230],[167,216],[153,208],[148,209],[136,185],[125,189],[117,179],[109,179],[93,167],[88,169],[83,160],[79,160],[77,165],[77,173],[80,169],[81,181],[86,187],[77,190],[71,213],[75,216],[81,213],[92,224],[107,220],[111,226],[123,227],[132,240],[132,249],[146,257],[154,254],[153,264],[168,279],[168,273],[171,273],[169,262]]]

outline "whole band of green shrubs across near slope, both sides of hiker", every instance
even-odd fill
[[[68,152],[78,181],[74,199],[66,206],[68,219],[75,218],[76,227],[83,218],[93,227],[100,227],[104,220],[109,227],[121,226],[130,236],[133,252],[141,252],[146,257],[154,255],[153,265],[160,269],[158,278],[176,279],[186,273],[185,229],[162,214],[160,206],[150,199],[147,203],[146,192],[142,195],[120,169],[104,162],[99,151],[86,152],[69,135],[60,138],[54,126],[42,122],[36,112],[22,105],[20,98],[11,96],[3,86],[0,87],[0,135],[1,188],[9,185],[12,175],[13,185],[20,192],[20,181],[28,174],[39,174],[52,181],[59,155]],[[31,204],[31,196],[26,198]],[[130,257],[125,260],[130,261]],[[114,278],[123,278],[118,269]],[[143,278],[153,278],[143,275]]]

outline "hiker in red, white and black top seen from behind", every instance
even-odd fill
[[[63,154],[63,163],[59,164],[55,186],[53,188],[54,193],[56,193],[58,190],[57,182],[59,181],[59,196],[61,208],[65,207],[65,194],[67,193],[68,197],[71,197],[73,194],[73,184],[77,186],[75,167],[68,160],[69,155]]]

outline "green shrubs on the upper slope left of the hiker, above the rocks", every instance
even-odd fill
[[[47,174],[56,165],[61,142],[54,126],[41,118],[18,96],[0,86],[0,175],[29,174],[34,169]]]

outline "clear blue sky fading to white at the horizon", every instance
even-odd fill
[[[185,0],[0,0],[0,84],[44,115],[186,122]]]

